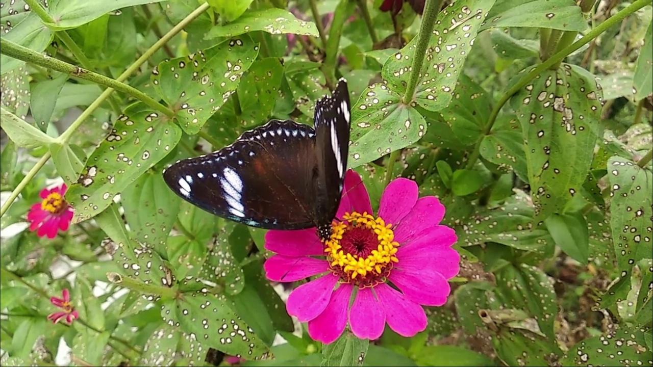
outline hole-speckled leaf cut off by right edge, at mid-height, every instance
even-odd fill
[[[611,157],[607,164],[610,182],[610,226],[614,253],[620,270],[629,270],[653,253],[653,174],[629,159]]]

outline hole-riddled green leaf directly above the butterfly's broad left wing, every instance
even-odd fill
[[[259,46],[251,37],[241,35],[163,61],[152,71],[151,80],[159,96],[176,112],[183,131],[194,135],[227,102],[258,54]]]

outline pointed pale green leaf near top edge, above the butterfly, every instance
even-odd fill
[[[251,0],[247,0],[251,1]],[[243,3],[247,3],[243,1]],[[224,3],[238,3],[231,0],[223,1]],[[264,31],[273,35],[283,33],[293,33],[295,35],[304,35],[318,37],[317,27],[313,22],[299,20],[284,9],[267,8],[246,12],[238,20],[229,24],[213,27],[204,37],[204,39],[214,39],[215,37],[234,37],[253,31]]]

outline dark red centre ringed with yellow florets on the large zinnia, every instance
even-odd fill
[[[345,213],[342,219],[334,221],[331,237],[324,241],[332,272],[358,287],[382,283],[399,261],[392,225],[367,212]]]

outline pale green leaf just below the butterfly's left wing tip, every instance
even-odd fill
[[[120,196],[132,238],[157,250],[165,247],[182,199],[170,190],[161,173],[148,170]]]

